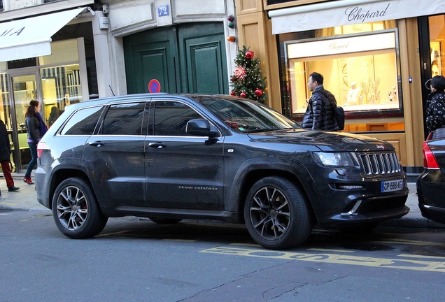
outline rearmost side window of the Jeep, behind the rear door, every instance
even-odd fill
[[[62,135],[92,135],[104,107],[80,109],[74,113],[62,129]]]

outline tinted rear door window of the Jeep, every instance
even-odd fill
[[[146,102],[110,106],[104,119],[102,134],[141,135]]]

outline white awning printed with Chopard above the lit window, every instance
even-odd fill
[[[272,34],[445,13],[444,0],[337,0],[270,10]]]

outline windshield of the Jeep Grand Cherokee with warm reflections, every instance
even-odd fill
[[[232,97],[195,99],[236,132],[302,129],[299,124],[262,103]]]

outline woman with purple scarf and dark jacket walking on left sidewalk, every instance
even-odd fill
[[[37,144],[43,135],[48,131],[48,127],[40,115],[40,103],[38,101],[30,101],[27,112],[24,114],[24,123],[27,127],[27,138],[29,150],[31,151],[31,161],[29,161],[26,173],[24,173],[23,181],[28,185],[34,185],[31,180],[31,171],[37,164]]]

